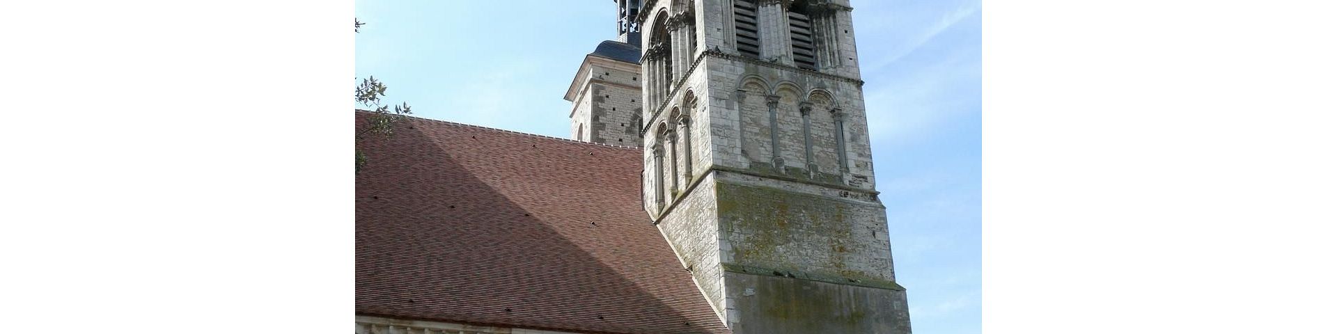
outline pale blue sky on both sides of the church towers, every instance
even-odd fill
[[[504,4],[504,5],[501,5]],[[980,3],[853,0],[897,281],[917,333],[980,333]],[[357,76],[420,118],[567,138],[612,1],[357,1]],[[352,84],[350,84],[352,86]],[[350,87],[352,88],[352,87]]]

